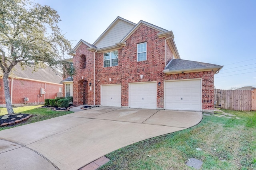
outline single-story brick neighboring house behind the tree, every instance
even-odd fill
[[[61,80],[61,73],[50,68],[38,68],[33,72],[33,68],[29,66],[22,70],[19,64],[16,65],[9,76],[12,105],[38,105],[44,99],[54,98],[57,92],[62,92]],[[3,84],[3,79],[0,78],[0,106],[6,107]]]

